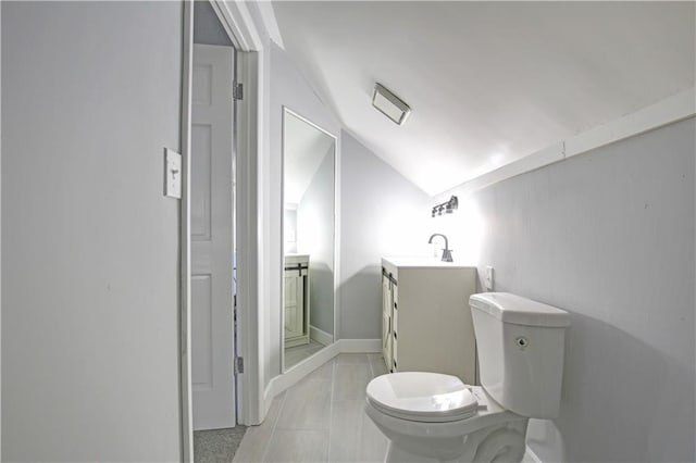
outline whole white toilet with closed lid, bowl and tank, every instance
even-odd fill
[[[385,461],[520,462],[529,418],[558,414],[568,312],[506,292],[469,304],[482,386],[424,372],[368,385],[365,412],[390,440]]]

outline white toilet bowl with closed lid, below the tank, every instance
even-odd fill
[[[450,375],[403,372],[368,385],[365,413],[389,439],[386,462],[519,462],[527,417]]]

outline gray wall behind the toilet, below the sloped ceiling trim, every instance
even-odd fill
[[[473,197],[480,273],[572,314],[560,416],[531,426],[543,461],[695,460],[695,135],[692,118]]]

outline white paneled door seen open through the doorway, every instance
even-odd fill
[[[233,49],[194,46],[191,386],[194,429],[235,425]]]

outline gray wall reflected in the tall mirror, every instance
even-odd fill
[[[297,247],[309,253],[310,324],[334,334],[334,171],[332,145],[297,208]]]

